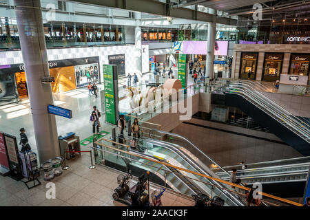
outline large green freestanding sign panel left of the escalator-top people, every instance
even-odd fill
[[[116,124],[118,118],[118,80],[116,65],[103,65],[103,81],[105,86],[105,120],[111,124]]]

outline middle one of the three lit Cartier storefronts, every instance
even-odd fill
[[[262,69],[263,81],[276,82],[276,80],[280,80],[283,55],[281,53],[265,53],[264,67]]]

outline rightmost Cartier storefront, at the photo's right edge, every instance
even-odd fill
[[[310,54],[291,54],[289,74],[309,76]]]

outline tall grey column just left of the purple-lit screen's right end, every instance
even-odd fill
[[[216,14],[216,10],[209,8],[210,14]],[[209,78],[214,77],[214,46],[216,38],[216,22],[214,17],[214,22],[208,24],[208,39],[207,39],[207,57],[205,62],[206,76]]]

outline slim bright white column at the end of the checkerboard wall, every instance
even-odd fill
[[[141,12],[134,12],[134,19],[136,19],[136,28],[134,29],[134,59],[136,64],[136,75],[142,77],[142,43],[141,43]]]

